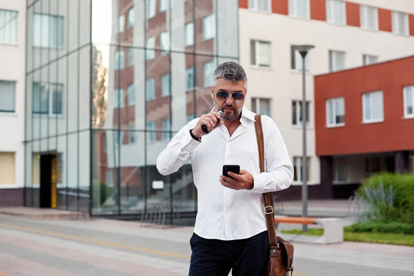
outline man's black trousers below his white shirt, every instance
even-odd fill
[[[266,275],[269,258],[267,231],[248,239],[204,239],[193,233],[189,276]]]

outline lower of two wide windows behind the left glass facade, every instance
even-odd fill
[[[33,83],[33,114],[62,115],[63,84]]]

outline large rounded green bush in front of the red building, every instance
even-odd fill
[[[363,214],[368,220],[414,224],[414,175],[373,175],[358,188],[357,197],[370,206]]]

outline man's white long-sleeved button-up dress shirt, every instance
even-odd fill
[[[255,113],[242,109],[242,123],[230,137],[226,126],[201,137],[188,122],[157,158],[161,175],[176,172],[191,161],[197,187],[198,211],[194,233],[206,239],[245,239],[267,229],[262,193],[283,190],[293,181],[293,166],[284,139],[273,119],[262,115],[266,172],[260,173],[255,132]],[[233,190],[219,182],[224,165],[239,165],[253,175],[252,190]]]

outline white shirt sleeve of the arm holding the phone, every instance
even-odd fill
[[[253,193],[268,193],[284,190],[292,184],[293,165],[284,139],[268,116],[262,115],[264,132],[265,172],[253,175]]]

